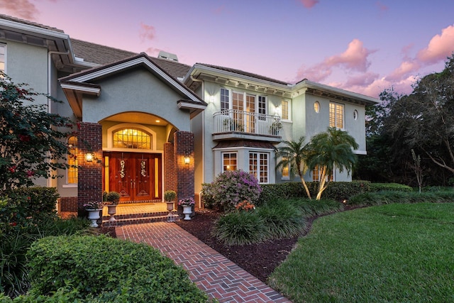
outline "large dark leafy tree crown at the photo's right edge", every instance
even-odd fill
[[[443,72],[423,77],[392,107],[390,131],[454,174],[454,54]]]

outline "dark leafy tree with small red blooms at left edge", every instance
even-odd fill
[[[45,95],[0,75],[0,196],[67,167],[70,132],[60,130],[72,128],[72,121],[33,103],[37,96]]]

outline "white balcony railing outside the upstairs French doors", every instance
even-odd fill
[[[214,133],[241,132],[262,136],[280,136],[282,128],[279,116],[229,109],[213,114]]]

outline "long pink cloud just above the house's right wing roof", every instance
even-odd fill
[[[362,41],[353,39],[348,43],[347,50],[340,55],[328,57],[323,60],[323,62],[312,67],[301,66],[297,71],[295,82],[303,78],[321,82],[333,73],[335,67],[341,67],[345,70],[366,72],[367,68],[370,66],[367,57],[372,53],[375,53],[375,50],[367,50],[367,48],[362,45]]]

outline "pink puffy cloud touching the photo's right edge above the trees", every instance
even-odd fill
[[[445,60],[454,51],[454,25],[441,30],[441,35],[435,35],[427,45],[416,54],[417,60],[425,65]]]

